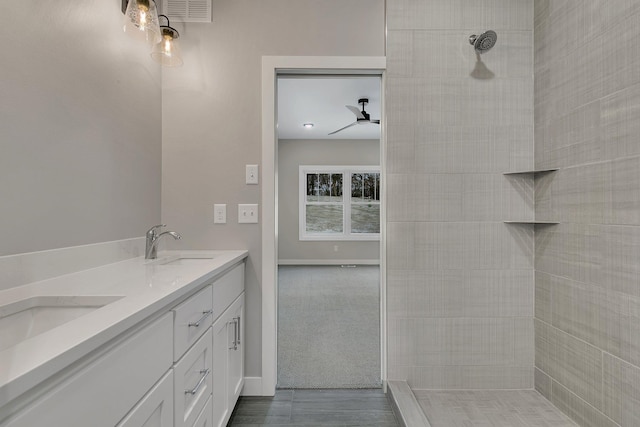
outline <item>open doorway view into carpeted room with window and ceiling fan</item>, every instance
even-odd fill
[[[379,388],[381,76],[276,85],[277,388]]]

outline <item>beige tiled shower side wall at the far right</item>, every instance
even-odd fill
[[[535,386],[640,425],[640,1],[535,2]]]

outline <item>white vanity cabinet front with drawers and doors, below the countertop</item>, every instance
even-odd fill
[[[244,261],[174,301],[1,407],[0,427],[225,425],[244,381]]]

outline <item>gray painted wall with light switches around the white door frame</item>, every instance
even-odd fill
[[[185,65],[162,73],[162,221],[174,247],[246,248],[246,375],[261,375],[261,225],[238,224],[260,164],[263,55],[384,55],[383,0],[215,0],[214,22],[180,31]],[[228,223],[213,224],[214,203]]]

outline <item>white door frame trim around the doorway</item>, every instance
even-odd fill
[[[262,57],[262,377],[261,384],[253,382],[245,394],[273,396],[277,381],[277,262],[278,262],[278,212],[277,185],[277,134],[276,134],[276,79],[278,74],[373,74],[382,76],[386,58],[383,56],[263,56]],[[384,89],[382,90],[384,97]],[[386,209],[384,161],[386,152],[384,128],[384,99],[381,102],[380,170],[382,178],[382,203],[380,218],[380,331],[381,378],[386,380],[386,270],[385,235]],[[248,384],[246,384],[248,385]],[[245,389],[247,389],[245,385]],[[261,393],[258,390],[261,389]]]

